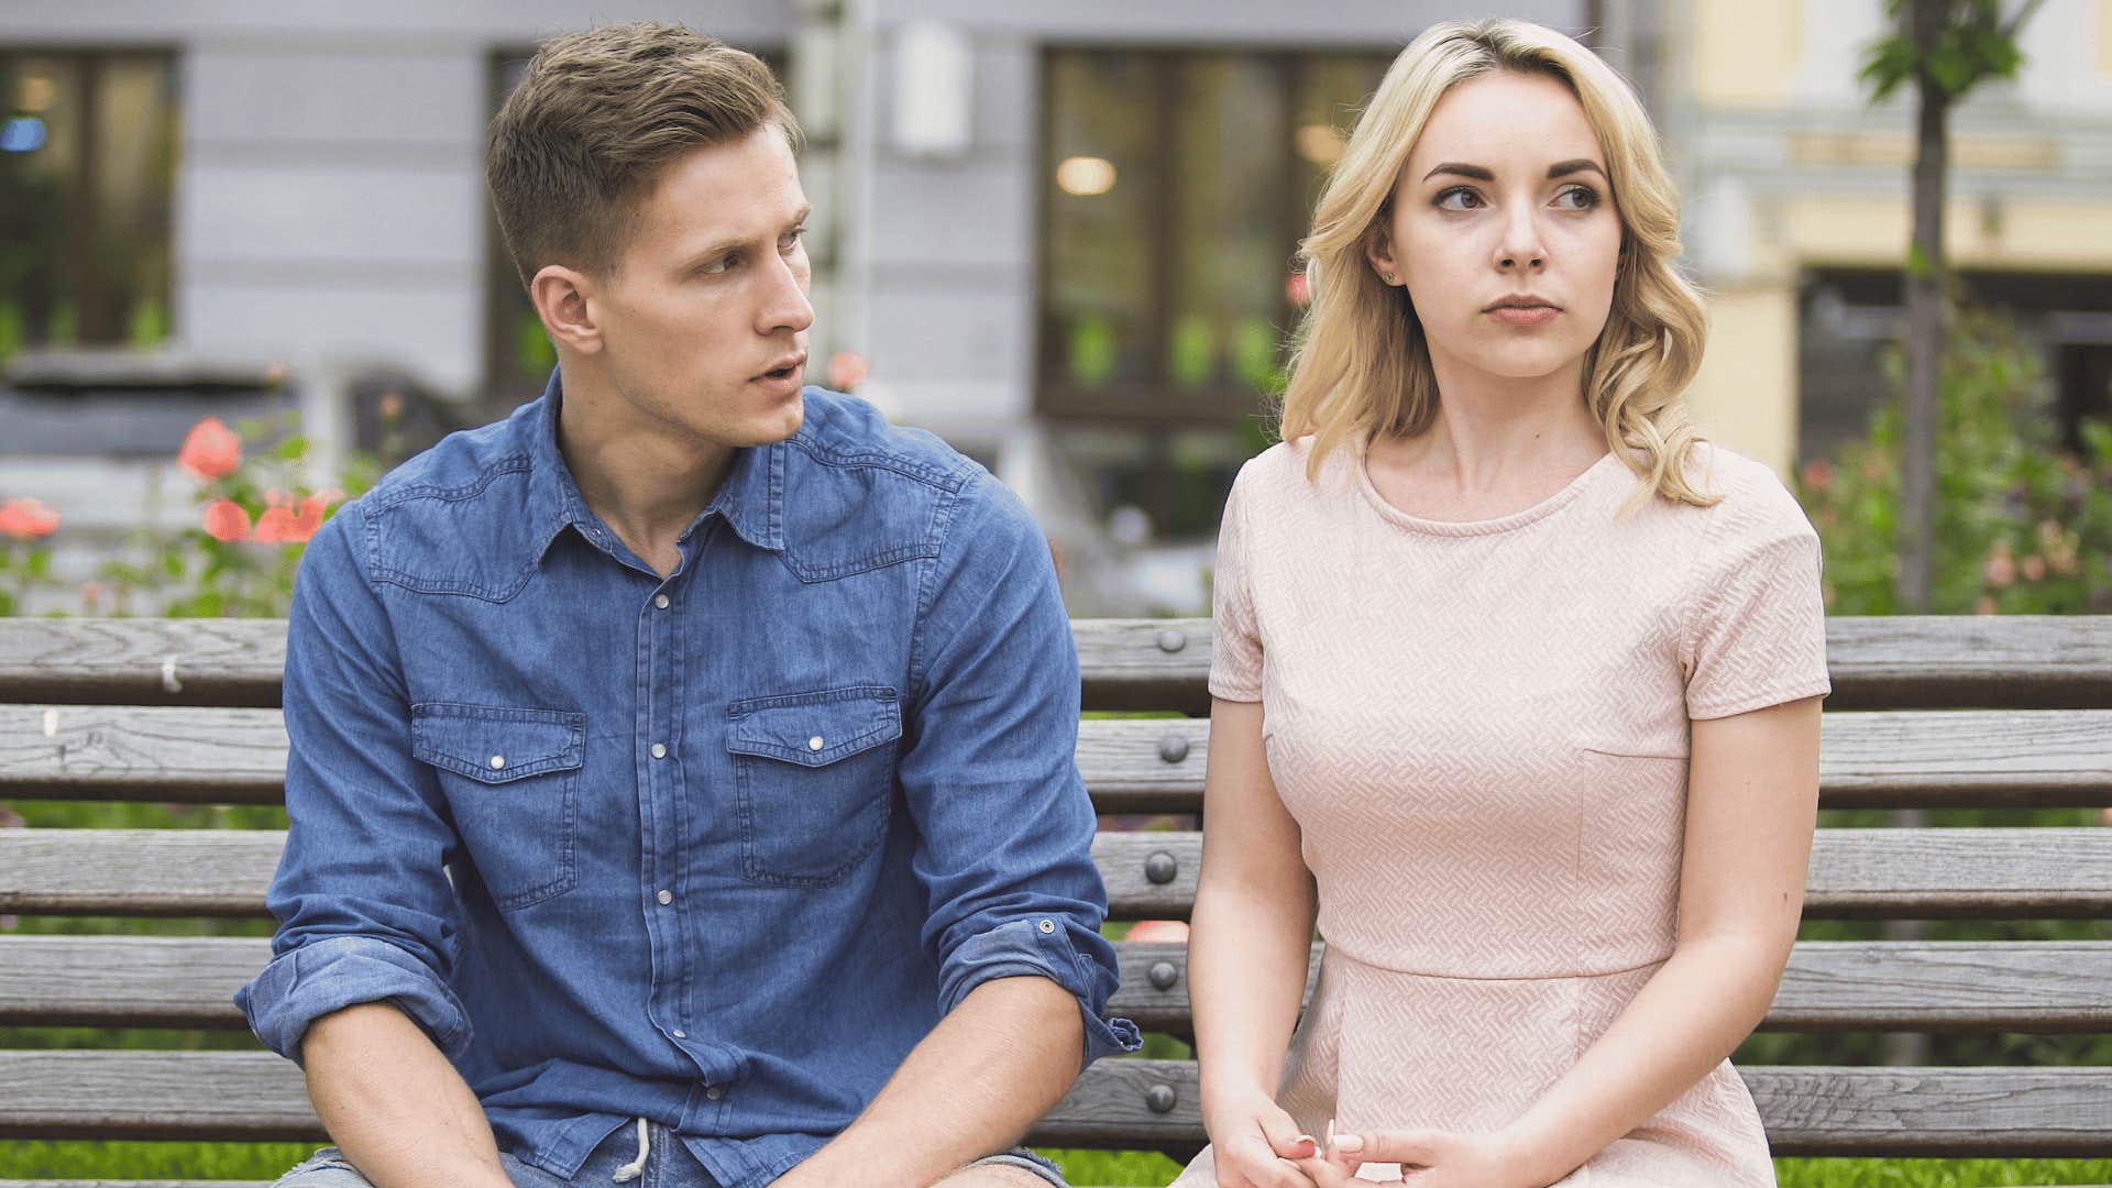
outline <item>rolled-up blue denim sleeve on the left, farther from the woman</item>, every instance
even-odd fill
[[[403,668],[361,564],[361,526],[359,503],[323,524],[294,583],[291,824],[266,898],[279,932],[272,962],[234,1002],[258,1040],[294,1061],[310,1023],[361,1002],[395,1004],[452,1059],[469,1044],[450,989],[456,835],[433,774],[410,755]]]

